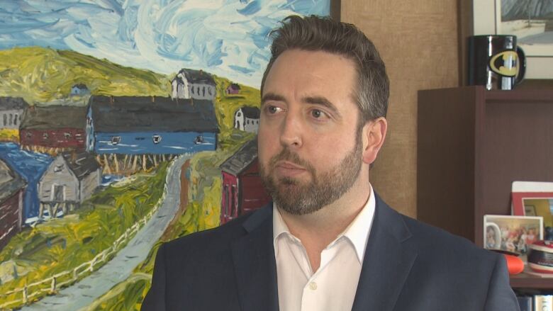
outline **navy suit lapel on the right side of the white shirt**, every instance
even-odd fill
[[[417,257],[408,247],[410,232],[403,217],[376,193],[375,197],[374,220],[352,311],[393,310]]]

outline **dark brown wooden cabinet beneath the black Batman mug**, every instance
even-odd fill
[[[484,215],[510,215],[513,181],[553,181],[553,90],[418,92],[418,219],[483,246]],[[511,278],[553,288],[553,278]]]

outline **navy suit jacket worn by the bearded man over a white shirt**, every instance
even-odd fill
[[[272,204],[162,244],[142,310],[277,311]],[[376,196],[352,310],[518,310],[505,259]]]

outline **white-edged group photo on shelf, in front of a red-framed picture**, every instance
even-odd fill
[[[527,253],[527,245],[543,239],[543,218],[484,215],[484,248]]]

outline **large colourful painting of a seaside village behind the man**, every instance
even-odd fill
[[[330,0],[0,1],[0,309],[139,310],[160,243],[269,200],[268,33]]]

